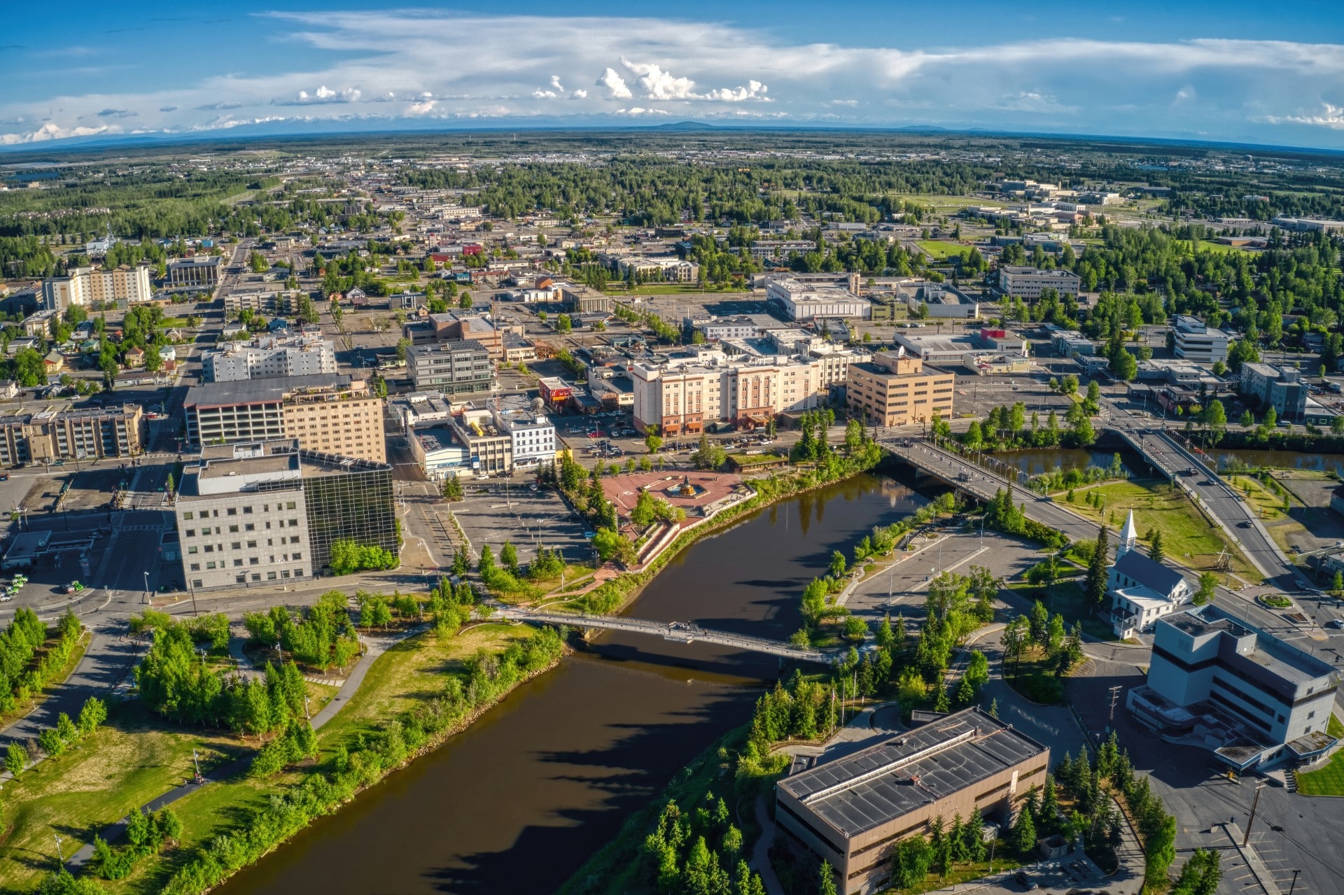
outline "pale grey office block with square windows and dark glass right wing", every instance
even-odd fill
[[[173,512],[194,590],[313,578],[336,540],[398,551],[391,466],[297,439],[202,449]]]

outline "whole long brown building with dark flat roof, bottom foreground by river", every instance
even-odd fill
[[[1009,822],[1050,767],[1047,746],[978,708],[833,751],[775,783],[775,824],[789,847],[828,861],[847,895],[886,888],[891,847],[934,820],[980,809]]]

